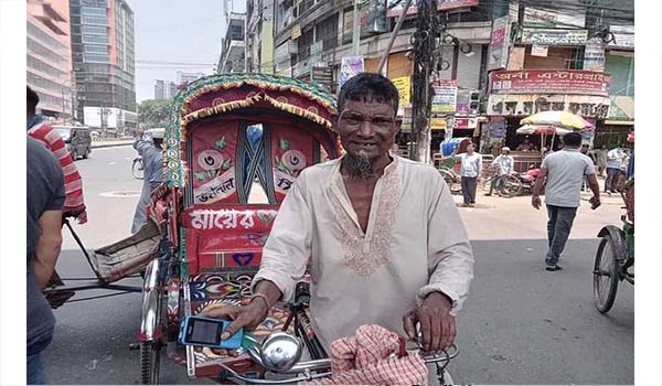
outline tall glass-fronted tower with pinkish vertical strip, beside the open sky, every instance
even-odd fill
[[[78,117],[136,127],[134,11],[126,0],[70,0],[70,12]]]

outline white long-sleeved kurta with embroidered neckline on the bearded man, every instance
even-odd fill
[[[376,183],[364,233],[340,160],[301,172],[264,247],[254,286],[273,281],[285,300],[310,262],[312,326],[328,349],[363,324],[404,335],[403,315],[433,291],[456,314],[473,278],[467,232],[434,168],[393,156]]]

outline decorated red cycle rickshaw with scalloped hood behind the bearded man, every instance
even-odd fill
[[[335,101],[319,85],[267,74],[220,74],[189,83],[174,97],[164,139],[164,184],[149,216],[162,232],[145,274],[140,382],[159,383],[162,347],[190,378],[291,383],[331,367],[310,326],[305,278],[235,351],[178,343],[182,320],[242,304],[263,246],[302,169],[340,156]],[[310,354],[301,361],[301,349]],[[269,353],[276,355],[269,356]],[[445,353],[428,361],[448,363]],[[266,374],[287,379],[265,379]]]

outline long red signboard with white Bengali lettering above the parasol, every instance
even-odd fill
[[[495,71],[492,94],[577,94],[609,96],[611,75],[575,69]]]

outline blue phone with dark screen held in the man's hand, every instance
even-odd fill
[[[235,350],[242,346],[244,330],[237,331],[228,340],[222,341],[221,334],[229,322],[226,320],[203,317],[185,317],[180,330],[179,341],[181,344],[203,346],[212,349]]]

